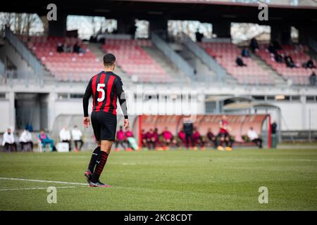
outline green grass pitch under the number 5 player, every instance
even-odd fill
[[[1,153],[0,177],[84,184],[90,155]],[[0,210],[317,210],[317,148],[112,152],[101,181],[112,187],[0,179]]]

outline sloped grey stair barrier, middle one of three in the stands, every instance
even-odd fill
[[[194,74],[194,68],[192,68],[191,65],[189,65],[178,53],[175,53],[175,51],[166,44],[161,37],[159,37],[158,34],[155,32],[151,33],[151,41],[153,44],[161,50],[166,57],[168,57],[180,70],[185,72],[186,75],[188,75],[191,79],[195,80],[195,74]]]

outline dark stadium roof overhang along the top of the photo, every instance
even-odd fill
[[[67,15],[101,15],[106,18],[167,20],[199,20],[202,23],[217,21],[259,23],[259,10],[256,2],[245,4],[240,0],[55,0],[58,12]],[[259,1],[260,2],[260,1]],[[261,1],[263,2],[263,0]],[[316,23],[317,2],[313,0],[298,1],[297,6],[286,4],[288,0],[271,0],[269,4],[270,23]],[[276,3],[275,3],[276,2]],[[279,4],[278,4],[279,3]],[[38,13],[46,15],[46,6],[51,0],[42,1],[6,1],[1,11],[16,13]]]

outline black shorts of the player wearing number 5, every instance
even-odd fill
[[[92,129],[97,141],[116,139],[117,117],[104,111],[92,112]]]

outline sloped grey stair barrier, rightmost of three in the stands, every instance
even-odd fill
[[[222,68],[214,58],[209,56],[204,49],[201,49],[201,47],[196,44],[190,37],[187,36],[187,34],[182,33],[182,41],[187,48],[192,51],[192,53],[195,54],[205,65],[209,67],[210,70],[215,72],[216,76],[218,77],[218,81],[224,80],[227,77],[227,73],[225,72],[225,69]]]

